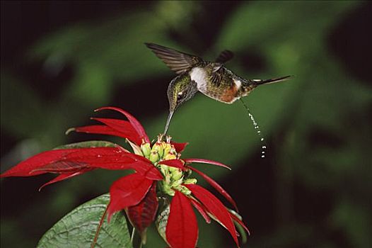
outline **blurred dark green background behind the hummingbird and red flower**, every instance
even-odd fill
[[[240,103],[199,94],[178,109],[174,140],[236,199],[252,235],[243,247],[371,247],[371,4],[367,1],[1,1],[1,171],[37,152],[83,140],[99,106],[132,113],[150,137],[168,115],[175,74],[143,43],[214,60],[242,77],[293,74]],[[100,116],[107,116],[101,113]],[[1,247],[35,247],[54,222],[122,176],[93,171],[1,179]],[[202,182],[202,180],[199,180]],[[232,247],[199,219],[199,247]],[[165,247],[149,231],[146,247]]]

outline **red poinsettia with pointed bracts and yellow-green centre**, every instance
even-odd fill
[[[0,176],[59,174],[43,185],[46,186],[93,169],[132,169],[133,174],[114,181],[110,187],[110,203],[105,212],[108,220],[117,211],[125,210],[133,227],[141,235],[142,242],[145,242],[146,228],[158,213],[158,231],[170,247],[195,247],[198,226],[194,208],[207,222],[213,218],[223,225],[239,246],[234,222],[248,232],[247,227],[236,212],[226,208],[216,196],[197,185],[197,179],[191,177],[192,172],[202,176],[233,208],[236,208],[235,201],[216,181],[190,164],[204,163],[230,168],[207,159],[180,159],[187,143],[171,142],[170,137],[163,135],[151,143],[142,125],[132,115],[115,107],[99,108],[97,111],[104,109],[118,111],[127,120],[93,118],[101,124],[72,128],[68,132],[123,137],[131,145],[133,153],[111,142],[75,143],[30,157]]]

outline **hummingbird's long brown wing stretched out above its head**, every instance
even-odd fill
[[[185,52],[163,47],[162,45],[156,45],[153,43],[145,43],[145,45],[146,47],[149,47],[158,58],[163,60],[163,62],[177,74],[187,72],[196,64],[203,62],[201,57],[189,55]]]

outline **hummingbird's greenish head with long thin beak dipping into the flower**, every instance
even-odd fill
[[[175,110],[185,101],[190,100],[197,93],[197,83],[192,81],[187,72],[175,77],[168,86],[169,115],[165,125],[164,135],[166,135],[170,119]]]

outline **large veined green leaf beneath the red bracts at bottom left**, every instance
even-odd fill
[[[105,194],[75,208],[42,236],[37,247],[91,247],[109,201]],[[112,215],[110,224],[105,218],[95,247],[132,247],[122,212]]]

